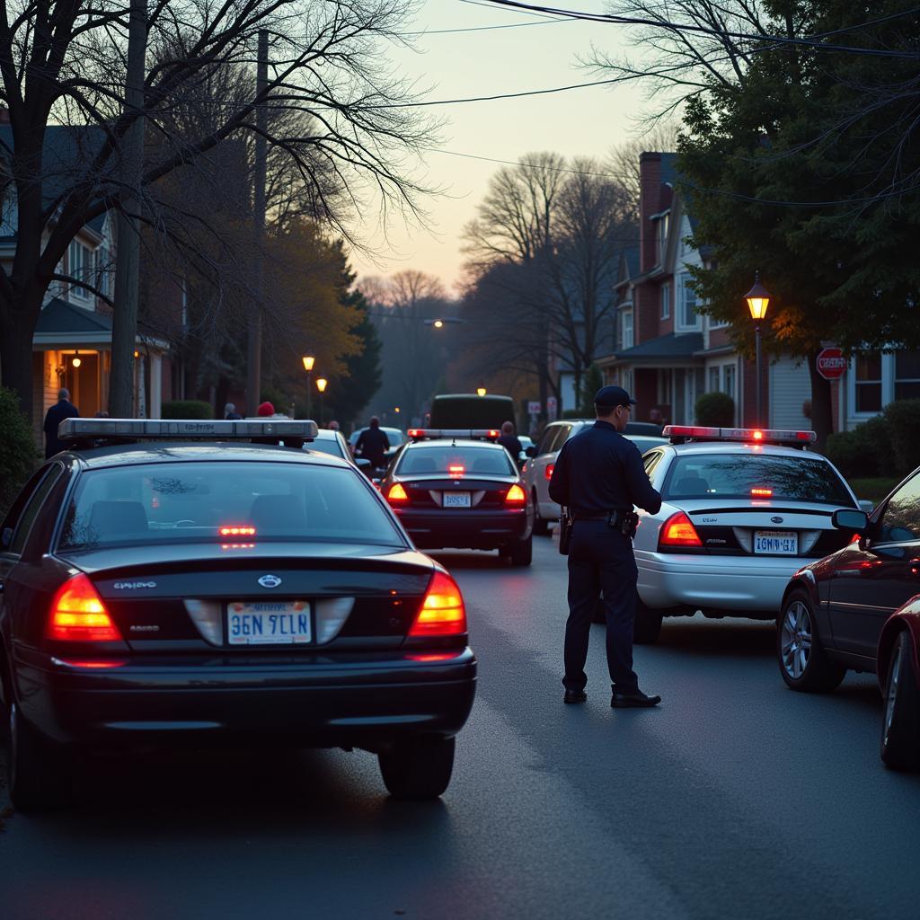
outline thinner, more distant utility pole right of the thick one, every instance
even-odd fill
[[[256,73],[256,93],[261,94],[269,85],[269,33],[259,29],[259,63]],[[253,271],[255,297],[249,314],[249,338],[246,350],[246,410],[255,415],[259,406],[262,377],[262,247],[265,241],[265,132],[269,125],[268,103],[262,100],[256,108],[256,163],[253,173],[252,194],[252,251],[256,260]]]

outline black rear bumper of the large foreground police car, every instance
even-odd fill
[[[43,660],[42,660],[43,659]],[[179,659],[121,667],[17,661],[23,715],[56,742],[131,749],[354,746],[463,728],[476,693],[472,650],[399,657],[290,656],[281,663]]]

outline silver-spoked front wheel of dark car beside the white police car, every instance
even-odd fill
[[[846,668],[828,656],[814,622],[808,595],[789,594],[776,617],[776,661],[790,689],[827,693],[840,685]]]

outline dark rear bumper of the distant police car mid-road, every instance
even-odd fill
[[[482,512],[475,508],[449,512],[398,508],[396,511],[413,543],[423,549],[445,546],[497,549],[525,540],[530,536],[534,523],[534,512],[530,508]]]

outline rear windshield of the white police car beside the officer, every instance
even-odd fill
[[[823,460],[766,454],[687,454],[668,471],[662,498],[817,501],[853,507],[844,481]]]

